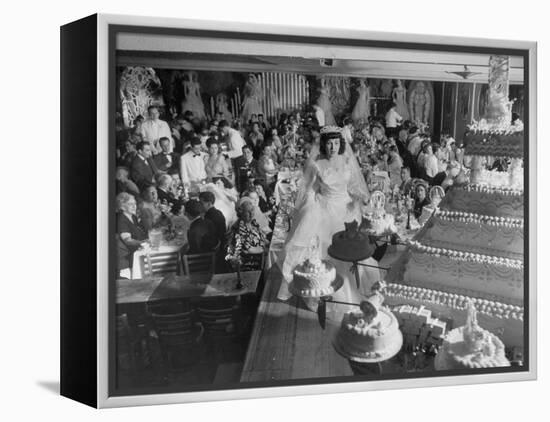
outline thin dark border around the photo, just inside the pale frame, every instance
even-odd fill
[[[518,373],[529,371],[529,50],[519,48],[493,48],[493,47],[478,47],[478,46],[461,46],[455,44],[436,44],[436,43],[412,43],[406,41],[379,41],[359,38],[329,38],[329,37],[313,37],[299,35],[281,35],[270,33],[247,33],[233,31],[214,31],[189,28],[168,28],[168,27],[151,27],[151,26],[132,26],[132,25],[109,25],[109,233],[114,233],[114,170],[115,170],[115,127],[114,115],[116,110],[116,35],[118,33],[132,34],[158,34],[158,35],[176,35],[176,36],[193,36],[203,38],[232,38],[232,39],[253,39],[259,41],[276,41],[288,43],[314,43],[335,46],[355,46],[355,47],[379,47],[379,48],[399,48],[410,50],[432,50],[432,51],[448,51],[456,53],[479,53],[479,54],[503,54],[510,56],[520,56],[524,60],[524,86],[525,90],[525,140],[524,140],[524,240],[525,240],[525,274],[524,274],[524,366],[509,367],[509,368],[486,368],[475,369],[469,371],[438,371],[433,373],[407,373],[399,375],[381,375],[376,379],[364,376],[342,376],[329,378],[304,378],[300,380],[277,380],[271,382],[250,382],[250,383],[231,383],[226,385],[197,385],[190,386],[185,389],[175,388],[144,388],[144,389],[116,389],[116,359],[114,351],[115,343],[115,283],[113,279],[109,280],[109,396],[127,396],[127,395],[142,395],[142,394],[168,394],[168,393],[185,393],[197,391],[217,391],[217,390],[236,390],[249,388],[265,388],[265,387],[285,387],[296,385],[313,385],[313,384],[334,384],[334,383],[352,383],[364,381],[380,381],[380,380],[399,380],[399,379],[419,379],[419,378],[438,378],[442,376],[464,376],[464,375],[486,375],[500,373]],[[360,34],[358,33],[358,36]],[[406,36],[405,34],[403,35]],[[435,39],[436,36],[431,38]],[[109,274],[115,271],[114,262],[116,259],[116,250],[114,242],[111,240],[109,245]],[[435,375],[437,374],[437,375]]]

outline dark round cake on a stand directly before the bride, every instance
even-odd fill
[[[372,256],[374,246],[368,236],[358,230],[356,221],[345,223],[346,229],[332,236],[329,255],[342,261],[362,261]]]

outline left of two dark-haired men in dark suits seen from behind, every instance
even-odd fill
[[[200,201],[191,199],[185,204],[185,214],[191,224],[187,232],[188,254],[211,252],[218,244],[216,228],[210,220],[203,218],[204,207]]]

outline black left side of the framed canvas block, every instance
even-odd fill
[[[97,15],[61,27],[61,395],[97,406]]]

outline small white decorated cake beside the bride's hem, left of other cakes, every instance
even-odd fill
[[[334,292],[336,268],[329,261],[306,259],[293,271],[291,290],[301,296],[324,296]]]

